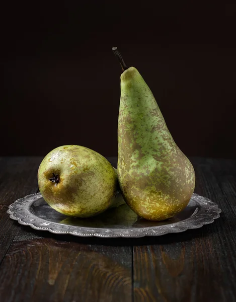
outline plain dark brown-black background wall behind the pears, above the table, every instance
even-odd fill
[[[236,158],[235,2],[11,2],[2,13],[0,155],[79,144],[116,156],[117,46],[187,156]]]

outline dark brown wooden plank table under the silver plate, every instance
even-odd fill
[[[236,301],[236,161],[190,158],[195,192],[222,209],[214,223],[156,238],[100,239],[9,218],[10,203],[38,192],[41,160],[0,158],[1,302]]]

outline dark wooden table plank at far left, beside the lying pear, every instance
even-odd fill
[[[9,204],[38,190],[41,158],[2,158],[0,162],[0,264],[20,225],[9,218]]]

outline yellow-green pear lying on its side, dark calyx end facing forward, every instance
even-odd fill
[[[59,183],[49,181],[58,174]],[[124,203],[117,198],[116,170],[99,153],[78,145],[52,150],[38,170],[39,190],[56,211],[68,216],[90,217]]]

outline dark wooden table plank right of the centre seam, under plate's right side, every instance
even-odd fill
[[[216,173],[218,162],[195,159],[195,192],[222,208],[214,223],[201,229],[140,241],[134,246],[134,301],[235,301],[236,215]],[[233,170],[234,171],[234,170]]]

